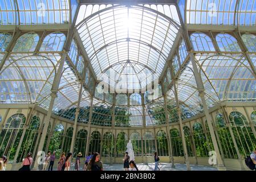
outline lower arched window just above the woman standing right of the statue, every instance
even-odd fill
[[[157,141],[157,154],[159,156],[168,156],[168,139],[166,137],[166,133],[164,131],[157,132],[156,135]]]

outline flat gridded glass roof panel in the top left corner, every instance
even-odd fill
[[[63,24],[70,20],[68,0],[17,0],[17,4],[1,0],[0,7],[0,24],[4,25]]]

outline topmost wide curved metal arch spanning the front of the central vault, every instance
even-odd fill
[[[149,7],[145,7],[145,6],[141,6],[141,5],[115,5],[115,6],[111,6],[111,7],[107,7],[105,9],[102,9],[100,11],[97,11],[96,13],[94,14],[91,14],[90,16],[87,16],[87,18],[83,19],[80,23],[78,23],[75,27],[77,28],[77,30],[79,30],[80,27],[84,26],[84,24],[87,22],[87,20],[91,19],[92,17],[94,17],[95,15],[98,15],[104,11],[108,11],[108,10],[111,10],[111,9],[115,9],[115,8],[118,8],[118,7],[139,7],[140,9],[146,9],[148,11],[152,11],[153,13],[156,13],[157,15],[160,15],[162,17],[164,17],[165,19],[169,20],[169,22],[177,28],[177,30],[179,30],[181,27],[180,27],[180,24],[178,24],[175,20],[173,20],[172,18],[166,16],[165,14],[162,14],[160,13],[159,11],[156,11],[156,10],[153,10]],[[178,10],[177,10],[178,11]]]

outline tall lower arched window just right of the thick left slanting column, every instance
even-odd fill
[[[58,124],[55,126],[54,131],[51,136],[50,144],[48,147],[49,151],[55,151],[56,157],[59,158],[62,150],[62,140],[63,140],[64,126]]]

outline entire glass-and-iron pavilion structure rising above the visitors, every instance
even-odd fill
[[[214,151],[218,169],[245,169],[256,1],[2,0],[0,25],[0,155],[11,163],[48,150],[122,163],[131,140],[141,163],[156,151],[190,169]]]

